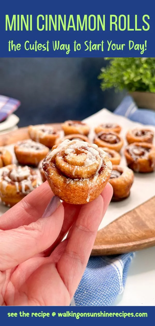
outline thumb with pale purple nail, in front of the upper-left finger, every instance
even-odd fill
[[[17,229],[0,231],[0,271],[13,268],[21,262],[49,248],[63,225],[64,209],[60,200],[51,215],[45,211],[42,218]]]

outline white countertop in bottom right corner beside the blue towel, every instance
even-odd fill
[[[155,305],[155,247],[137,251],[129,267],[124,292],[112,306]]]

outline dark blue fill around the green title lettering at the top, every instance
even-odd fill
[[[155,19],[154,10],[152,8],[153,1],[6,1],[3,2],[3,7],[0,11],[0,56],[1,57],[139,57],[141,56],[139,51],[129,51],[128,46],[124,48],[124,51],[109,51],[107,52],[105,47],[104,52],[100,51],[84,51],[74,52],[70,51],[67,55],[64,51],[52,51],[52,40],[60,40],[62,43],[70,43],[76,39],[77,42],[83,43],[85,40],[92,40],[94,43],[100,43],[102,40],[112,40],[114,43],[127,43],[129,40],[134,40],[135,43],[144,43],[147,40],[147,51],[143,53],[144,57],[154,57],[155,43],[154,43],[154,31],[155,31]],[[8,14],[32,14],[33,15],[33,30],[32,31],[5,31],[5,15]],[[81,18],[84,14],[90,15],[106,15],[106,31],[38,31],[36,29],[36,17],[42,14],[61,14],[61,15],[77,15]],[[142,26],[142,16],[148,14],[150,17],[149,31],[109,31],[109,15],[110,14],[130,14],[131,25],[134,25],[134,15],[138,15],[138,25]],[[12,39],[16,43],[22,45],[26,40],[34,43],[37,40],[40,43],[45,43],[47,40],[50,42],[50,52],[46,51],[26,51],[23,46],[20,51],[8,52],[8,41]]]

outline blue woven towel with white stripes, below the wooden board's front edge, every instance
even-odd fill
[[[133,256],[90,257],[71,305],[109,306],[124,290]]]

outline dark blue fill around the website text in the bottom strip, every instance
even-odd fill
[[[50,317],[7,317],[8,312],[24,311],[29,312],[49,312]],[[127,313],[142,313],[147,312],[148,317],[58,317],[57,312],[127,312]],[[56,316],[52,317],[51,313],[56,312]],[[7,323],[9,325],[149,325],[154,319],[154,307],[0,307],[1,323]]]

